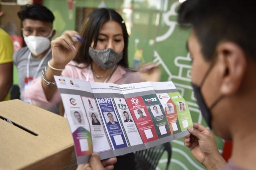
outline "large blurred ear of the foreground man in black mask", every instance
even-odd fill
[[[223,95],[233,94],[239,90],[246,71],[246,55],[243,49],[234,42],[222,42],[217,47],[219,61],[222,64],[222,82],[220,92]]]

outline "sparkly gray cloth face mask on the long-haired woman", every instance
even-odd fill
[[[89,55],[92,60],[104,70],[114,67],[123,58],[123,52],[117,53],[112,48],[96,50],[89,47]]]

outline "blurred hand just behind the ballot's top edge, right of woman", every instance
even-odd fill
[[[142,81],[160,81],[161,69],[154,62],[149,62],[140,67]]]

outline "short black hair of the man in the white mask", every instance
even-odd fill
[[[18,12],[18,17],[21,21],[24,21],[25,19],[32,19],[49,22],[51,24],[55,19],[53,13],[48,8],[39,4],[24,5]]]

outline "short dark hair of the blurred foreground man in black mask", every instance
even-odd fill
[[[178,22],[193,26],[206,60],[214,58],[218,43],[231,41],[256,60],[256,23],[253,0],[187,0]]]

